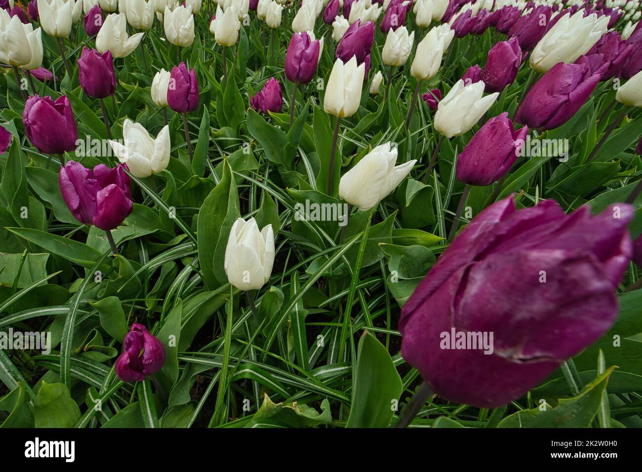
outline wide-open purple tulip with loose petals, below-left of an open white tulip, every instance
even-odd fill
[[[94,170],[69,161],[60,168],[60,193],[74,218],[84,225],[110,231],[132,213],[130,178],[126,164],[110,169],[98,164]]]

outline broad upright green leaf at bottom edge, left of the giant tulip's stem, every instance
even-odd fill
[[[346,428],[386,428],[403,391],[388,350],[372,333],[359,340],[356,378]]]

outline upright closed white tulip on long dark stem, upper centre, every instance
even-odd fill
[[[325,112],[338,118],[354,115],[361,101],[364,74],[365,64],[357,66],[356,57],[345,64],[337,58],[325,87]]]

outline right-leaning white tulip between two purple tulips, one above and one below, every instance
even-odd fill
[[[469,85],[458,80],[437,105],[435,129],[447,138],[460,136],[470,130],[499,96],[498,92],[494,92],[482,98],[484,87],[481,80]]]

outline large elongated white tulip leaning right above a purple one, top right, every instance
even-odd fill
[[[530,54],[530,65],[537,72],[548,70],[559,62],[575,62],[586,54],[606,32],[610,17],[595,13],[584,17],[584,10],[571,16],[566,13],[537,43]]]

